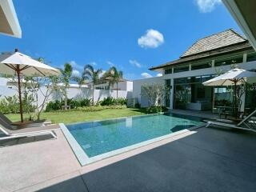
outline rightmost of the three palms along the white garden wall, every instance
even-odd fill
[[[117,98],[118,98],[118,82],[122,80],[122,70],[117,70],[114,66],[110,67],[110,70],[104,74],[104,77],[111,86],[117,85]]]

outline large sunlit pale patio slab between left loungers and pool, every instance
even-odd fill
[[[19,190],[78,170],[80,165],[61,130],[58,138],[0,148],[0,186]]]

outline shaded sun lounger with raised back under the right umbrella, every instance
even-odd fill
[[[211,126],[224,126],[224,127],[230,127],[230,128],[235,128],[235,129],[240,129],[240,130],[250,130],[256,132],[256,119],[253,118],[254,114],[256,114],[256,110],[254,110],[253,113],[248,115],[246,118],[244,118],[241,122],[234,123],[231,121],[220,121],[220,119],[215,119],[216,121],[209,121],[206,120],[207,125]]]

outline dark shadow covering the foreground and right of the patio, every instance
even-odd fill
[[[255,146],[256,134],[201,128],[41,191],[255,191]]]

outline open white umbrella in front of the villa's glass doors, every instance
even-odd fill
[[[204,86],[234,86],[234,93],[237,93],[237,86],[246,82],[256,82],[256,73],[248,70],[235,68],[221,74],[216,78],[212,78],[202,84]],[[234,110],[237,108],[237,97],[234,97]],[[237,113],[235,113],[237,114]]]

